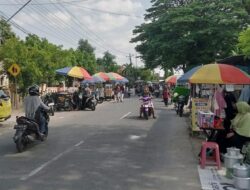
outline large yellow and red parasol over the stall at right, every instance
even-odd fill
[[[189,79],[199,84],[250,84],[250,77],[243,71],[227,64],[207,64],[200,67]]]

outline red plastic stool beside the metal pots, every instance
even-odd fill
[[[207,149],[211,149],[213,151],[213,156],[208,157],[207,156]],[[219,146],[216,142],[207,142],[204,141],[202,142],[202,147],[201,147],[201,159],[200,159],[200,165],[201,168],[204,169],[206,164],[211,164],[207,163],[208,160],[213,160],[214,163],[213,165],[216,164],[218,169],[221,168],[221,162],[220,162],[220,150]]]

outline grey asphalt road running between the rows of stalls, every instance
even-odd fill
[[[56,112],[47,141],[23,153],[12,140],[14,119],[6,121],[0,190],[201,189],[185,118],[154,101],[157,119],[149,120],[138,118],[138,98]]]

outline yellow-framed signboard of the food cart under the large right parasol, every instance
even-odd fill
[[[192,99],[192,131],[199,131],[197,126],[198,111],[209,111],[209,100],[206,98],[193,98]]]

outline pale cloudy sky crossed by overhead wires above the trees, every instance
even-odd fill
[[[0,15],[9,18],[28,0],[0,0]],[[119,65],[142,66],[129,41],[132,30],[144,22],[150,0],[32,0],[11,21],[25,31],[64,48],[76,48],[79,39],[87,39],[97,57],[109,51]],[[24,38],[25,33],[13,27]]]

